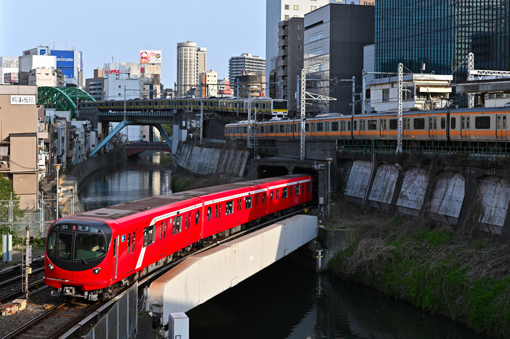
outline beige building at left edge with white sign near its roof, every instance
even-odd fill
[[[0,174],[20,200],[37,199],[39,189],[36,97],[36,86],[0,85]]]

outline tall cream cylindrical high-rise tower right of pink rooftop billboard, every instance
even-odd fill
[[[184,96],[192,88],[198,87],[199,74],[207,70],[207,49],[196,43],[177,43],[177,90],[176,97]]]

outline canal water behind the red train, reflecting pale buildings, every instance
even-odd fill
[[[98,171],[80,187],[85,211],[171,193],[172,155],[147,151]]]

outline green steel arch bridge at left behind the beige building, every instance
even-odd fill
[[[95,102],[95,99],[89,93],[76,87],[39,87],[37,89],[37,103],[58,111],[70,111],[71,118],[76,117],[78,103],[82,101]]]

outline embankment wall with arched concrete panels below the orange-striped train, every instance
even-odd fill
[[[344,163],[349,163],[345,166]],[[447,160],[392,161],[339,159],[347,177],[342,192],[348,201],[389,215],[423,217],[510,240],[509,171],[504,165]]]

